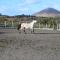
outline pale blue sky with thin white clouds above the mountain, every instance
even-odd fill
[[[0,13],[3,15],[32,15],[45,8],[60,11],[60,0],[0,0]]]

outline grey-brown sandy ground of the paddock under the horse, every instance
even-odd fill
[[[37,32],[0,29],[0,60],[60,60],[60,31]]]

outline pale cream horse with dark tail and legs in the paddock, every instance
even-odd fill
[[[18,28],[21,29],[21,30],[23,29],[24,32],[25,32],[26,29],[31,29],[31,30],[32,30],[31,33],[32,33],[32,32],[34,32],[33,25],[34,25],[34,23],[36,23],[36,22],[37,22],[36,20],[33,20],[33,21],[30,22],[30,23],[27,23],[27,22],[26,22],[26,23],[21,23],[20,26],[18,25]],[[26,32],[25,32],[25,33],[26,33]]]

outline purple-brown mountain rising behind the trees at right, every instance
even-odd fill
[[[60,11],[54,8],[46,8],[33,14],[34,16],[42,16],[42,17],[57,17],[60,16]]]

